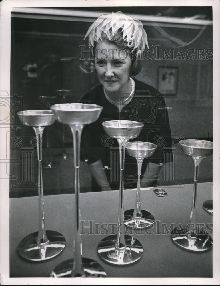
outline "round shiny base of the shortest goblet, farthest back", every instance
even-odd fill
[[[146,210],[141,210],[142,217],[135,219],[133,217],[134,209],[124,212],[124,223],[131,229],[145,229],[154,223],[154,216]]]

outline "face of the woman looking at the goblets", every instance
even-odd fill
[[[130,52],[106,41],[95,47],[95,69],[105,90],[125,92],[128,90],[132,60]]]

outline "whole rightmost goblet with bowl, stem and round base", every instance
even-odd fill
[[[181,233],[178,228],[173,229],[171,238],[173,242],[189,251],[205,251],[212,247],[212,238],[202,229],[196,227],[196,195],[199,166],[203,158],[213,154],[213,142],[205,140],[187,139],[179,142],[183,152],[191,156],[194,161],[194,188],[193,202],[190,212],[189,224],[182,227]]]

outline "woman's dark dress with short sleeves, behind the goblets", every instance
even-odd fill
[[[172,161],[170,155],[172,154],[172,139],[165,100],[154,87],[136,79],[134,81],[134,96],[121,112],[107,100],[101,84],[92,88],[81,98],[103,106],[99,119],[84,127],[81,147],[84,148],[83,150],[86,148],[88,157],[93,157],[88,163],[102,160],[112,189],[119,189],[119,145],[116,139],[107,136],[101,124],[103,121],[132,120],[144,123],[139,136],[133,141],[151,142],[157,145],[157,149],[151,157],[144,159],[141,169],[142,176],[148,162],[168,163]],[[108,169],[107,166],[111,169]],[[125,152],[124,188],[135,188],[136,186],[137,161]],[[95,180],[92,180],[92,191],[98,190],[100,188]]]

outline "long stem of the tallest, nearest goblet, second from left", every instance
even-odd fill
[[[75,202],[74,202],[74,243],[73,243],[73,269],[71,277],[86,277],[82,265],[82,242],[79,229],[80,222],[80,185],[79,185],[79,166],[80,166],[80,141],[83,130],[83,124],[70,125],[73,134],[73,154],[74,154],[74,168],[75,168]]]

